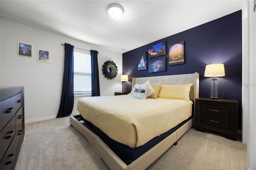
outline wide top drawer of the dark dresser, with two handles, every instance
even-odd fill
[[[1,131],[22,105],[22,93],[0,101]]]

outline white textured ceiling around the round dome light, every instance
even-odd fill
[[[118,20],[106,12],[111,3],[124,8]],[[241,10],[242,0],[1,0],[0,6],[1,18],[124,53]]]

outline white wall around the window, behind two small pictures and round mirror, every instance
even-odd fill
[[[1,18],[0,20],[0,85],[24,86],[25,123],[55,118],[60,106],[64,70],[64,45],[94,49],[99,52],[100,95],[122,91],[122,54],[97,45],[80,42]],[[17,55],[18,42],[32,44],[32,58]],[[50,63],[37,61],[37,49],[50,51]],[[109,80],[102,74],[102,65],[111,60],[118,66],[118,75]],[[79,97],[75,98],[73,112]],[[50,101],[46,107],[45,102]]]

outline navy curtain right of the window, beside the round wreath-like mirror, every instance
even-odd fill
[[[92,65],[92,96],[100,96],[98,51],[90,50]]]

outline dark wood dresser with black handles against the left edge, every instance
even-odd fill
[[[1,170],[14,170],[24,139],[24,87],[0,87]]]

